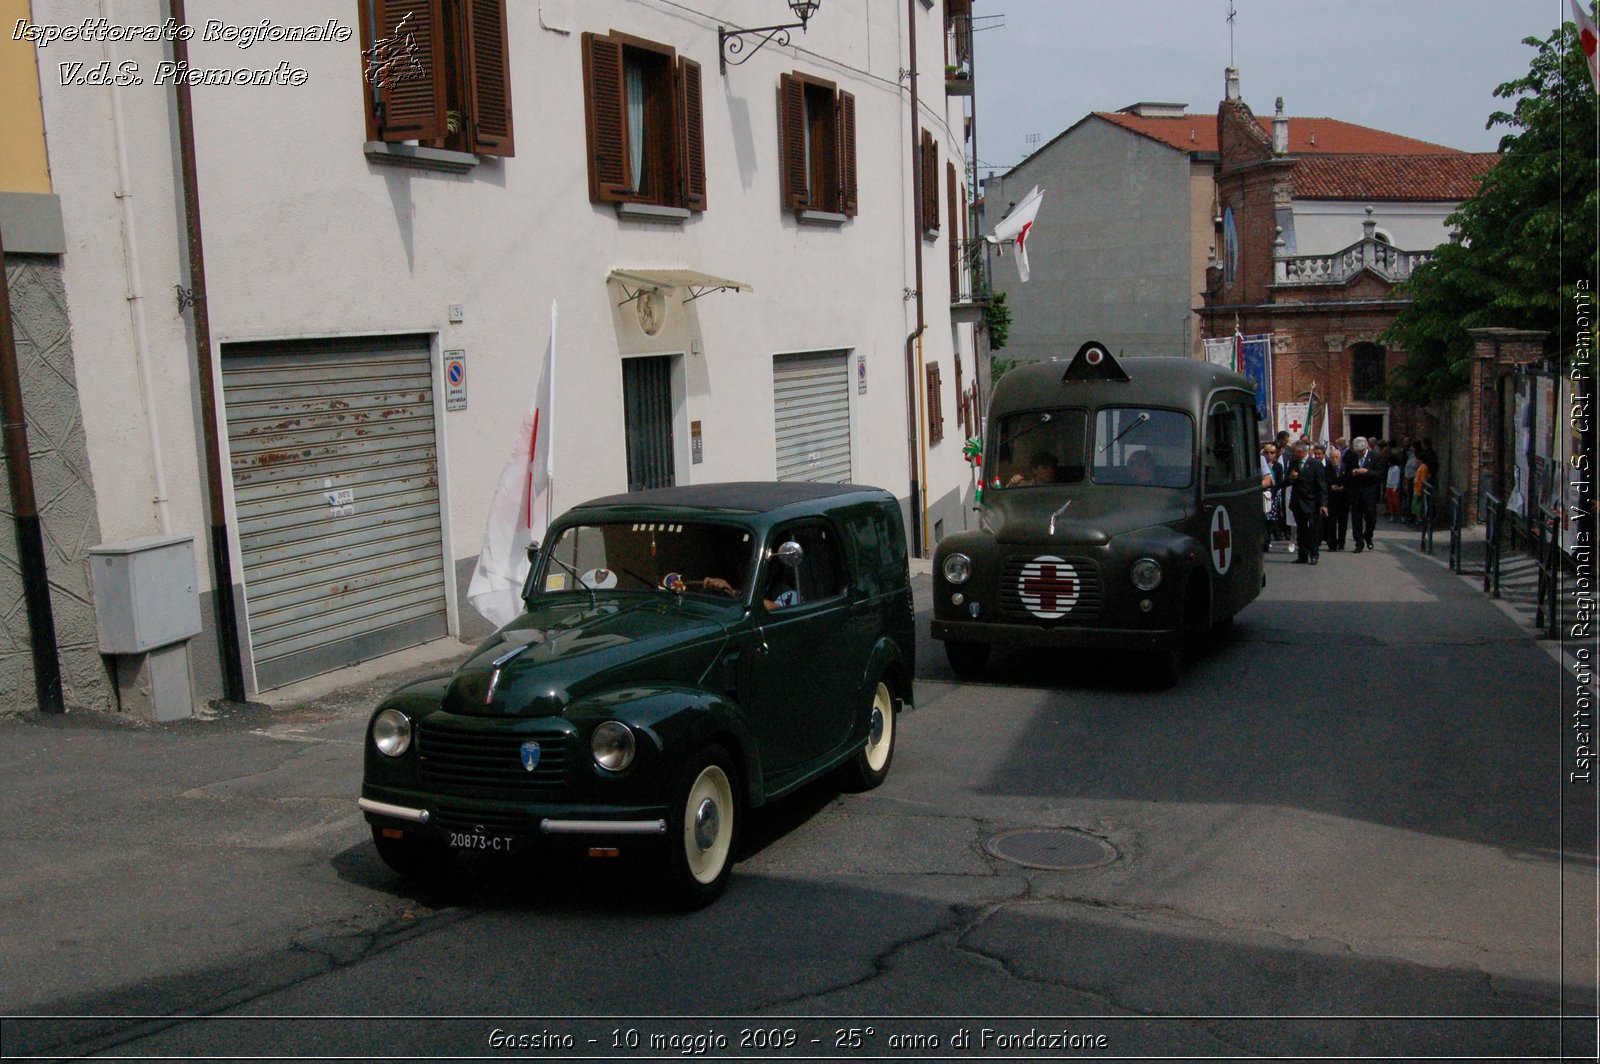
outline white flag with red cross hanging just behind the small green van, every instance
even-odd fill
[[[522,582],[528,578],[528,544],[541,539],[550,525],[550,408],[555,397],[555,302],[550,302],[550,342],[533,394],[533,405],[522,419],[517,442],[501,467],[490,515],[483,528],[483,550],[467,584],[467,602],[496,626],[522,613]]]

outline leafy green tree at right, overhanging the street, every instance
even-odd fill
[[[1427,403],[1467,386],[1467,330],[1506,326],[1568,334],[1565,309],[1595,277],[1595,90],[1571,24],[1528,37],[1525,77],[1494,90],[1514,101],[1485,128],[1509,126],[1501,160],[1448,219],[1458,237],[1402,285],[1413,302],[1381,338],[1406,350],[1390,398]]]

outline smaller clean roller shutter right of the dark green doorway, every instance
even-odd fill
[[[773,358],[778,478],[850,483],[850,357]]]

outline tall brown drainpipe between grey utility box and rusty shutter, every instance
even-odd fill
[[[173,22],[187,24],[184,0],[170,0]],[[189,62],[186,34],[173,35],[173,61]],[[200,427],[205,435],[206,498],[211,520],[211,582],[216,586],[218,654],[222,666],[222,696],[245,701],[245,670],[238,646],[238,611],[234,606],[234,558],[229,552],[227,507],[222,504],[222,448],[216,426],[216,378],[211,371],[211,312],[205,291],[205,246],[200,240],[200,181],[195,168],[194,101],[189,83],[173,86],[178,104],[178,150],[184,179],[184,222],[189,238],[189,285],[194,293],[195,371],[200,387]]]

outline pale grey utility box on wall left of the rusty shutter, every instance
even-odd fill
[[[194,536],[90,547],[102,654],[142,654],[200,634]]]

